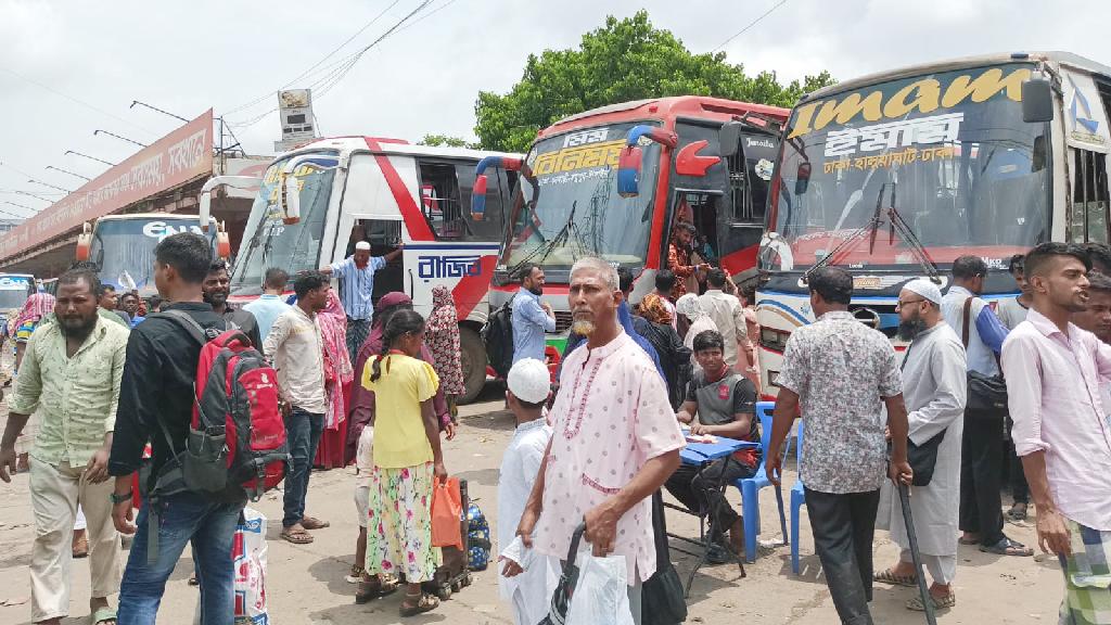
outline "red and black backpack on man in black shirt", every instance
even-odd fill
[[[241,486],[252,500],[277,486],[291,460],[278,408],[278,374],[238,329],[210,338],[192,317],[166,310],[201,341],[193,418],[181,455],[184,486],[220,493]]]

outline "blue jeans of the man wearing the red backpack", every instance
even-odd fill
[[[246,502],[244,502],[246,503]],[[158,558],[147,559],[149,503],[139,508],[131,555],[120,584],[119,625],[150,625],[166,592],[166,581],[181,558],[186,543],[193,544],[197,581],[201,591],[201,623],[232,625],[236,614],[236,569],[231,545],[244,503],[214,502],[198,493],[179,493],[159,500]]]

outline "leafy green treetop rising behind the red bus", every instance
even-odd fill
[[[582,36],[578,49],[529,54],[509,93],[480,91],[474,133],[484,149],[526,151],[542,128],[592,108],[665,96],[713,96],[791,107],[799,97],[834,81],[829,72],[780,83],[774,72],[755,77],[725,53],[694,54],[647,11]]]

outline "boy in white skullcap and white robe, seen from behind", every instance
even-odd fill
[[[504,562],[498,583],[501,597],[513,607],[513,622],[533,625],[548,615],[559,572],[551,558],[526,548],[516,533],[552,435],[544,421],[551,374],[540,360],[523,358],[513,364],[506,384],[517,431],[502,456],[498,479],[498,546],[502,549],[498,559]]]

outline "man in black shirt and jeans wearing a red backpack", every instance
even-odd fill
[[[162,309],[188,314],[210,338],[222,331],[224,319],[201,300],[201,282],[212,260],[208,241],[191,232],[172,235],[158,245],[154,258],[154,284],[172,302]],[[131,478],[140,467],[146,444],[150,442],[153,452],[151,476],[158,476],[167,460],[186,447],[200,349],[197,338],[161,315],[137,326],[128,339],[108,464],[109,473],[116,476],[112,520],[121,533],[136,535],[120,586],[119,625],[154,623],[166,581],[190,540],[201,585],[201,622],[232,624],[231,546],[246,494],[232,489],[223,497],[190,490],[162,495],[156,515],[144,500],[136,525],[131,524]],[[149,523],[151,516],[156,524]]]

